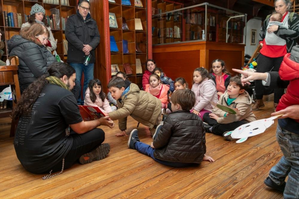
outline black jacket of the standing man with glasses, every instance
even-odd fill
[[[83,53],[83,44],[89,44],[92,47],[91,59],[89,63],[95,62],[94,49],[100,43],[100,33],[97,28],[97,22],[88,14],[85,18],[77,14],[71,15],[65,25],[65,38],[68,40],[68,63],[83,63],[85,53]]]

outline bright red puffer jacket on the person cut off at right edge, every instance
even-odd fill
[[[291,60],[290,55],[291,53],[287,53],[280,65],[280,78],[290,81],[290,84],[287,88],[287,92],[280,98],[276,111],[299,104],[299,63]],[[299,122],[299,120],[296,121]]]

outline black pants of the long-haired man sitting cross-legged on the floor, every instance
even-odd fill
[[[105,140],[105,133],[102,129],[92,129],[91,131],[83,134],[77,134],[76,132],[71,131],[69,136],[73,139],[73,144],[71,150],[64,158],[64,169],[70,168],[81,155],[97,148]],[[53,172],[61,171],[62,160],[49,171],[52,169]]]

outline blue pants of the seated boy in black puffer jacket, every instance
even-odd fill
[[[158,163],[167,165],[167,166],[174,166],[174,167],[186,167],[186,166],[193,166],[194,163],[184,163],[184,162],[170,162],[165,160],[160,160],[154,157],[154,151],[152,147],[150,147],[148,144],[144,144],[143,142],[136,142],[135,143],[135,149],[145,155],[148,155]]]

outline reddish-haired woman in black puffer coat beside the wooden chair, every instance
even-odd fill
[[[19,83],[21,93],[40,76],[47,72],[48,67],[57,62],[44,46],[49,31],[42,24],[33,24],[14,35],[7,42],[9,56],[19,57]]]

